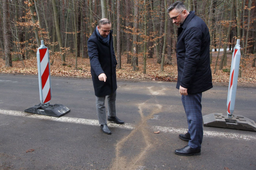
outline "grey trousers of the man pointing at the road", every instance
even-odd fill
[[[100,125],[107,125],[106,119],[106,107],[105,107],[105,98],[96,96],[96,111],[98,114],[98,120]],[[108,116],[116,116],[116,91],[107,96],[108,101]]]

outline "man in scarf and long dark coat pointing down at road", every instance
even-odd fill
[[[124,121],[116,117],[117,61],[113,47],[111,23],[108,19],[103,18],[98,22],[97,28],[88,39],[87,46],[100,128],[104,133],[111,134],[106,120],[106,96],[108,100],[108,121],[117,124],[124,124]]]

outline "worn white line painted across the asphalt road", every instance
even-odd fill
[[[56,121],[56,122],[99,126],[98,120],[91,120],[91,119],[71,118],[71,117],[65,117],[65,116],[57,118],[52,116],[45,116],[45,115],[13,111],[13,110],[3,110],[3,109],[0,109],[0,114],[11,115],[11,116],[21,116],[21,117],[34,118],[34,119],[43,119],[43,120]],[[134,124],[128,124],[128,123],[125,123],[123,125],[108,123],[108,126],[112,128],[135,129]],[[153,131],[160,131],[164,133],[186,133],[187,132],[187,129],[185,128],[172,128],[172,127],[162,127],[162,126],[151,126],[148,128],[151,128]],[[247,140],[247,141],[256,140],[256,135],[243,135],[243,134],[237,134],[237,133],[206,131],[206,130],[204,130],[204,136],[228,138],[228,139],[236,139],[236,140]]]

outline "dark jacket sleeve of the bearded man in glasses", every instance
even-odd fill
[[[202,31],[197,27],[191,27],[185,35],[186,55],[180,85],[189,88],[194,77],[198,63],[200,62]]]

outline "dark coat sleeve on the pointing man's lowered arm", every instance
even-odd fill
[[[88,55],[90,58],[91,68],[94,70],[95,74],[99,76],[101,73],[104,73],[100,61],[97,44],[93,39],[89,39],[87,42]]]

